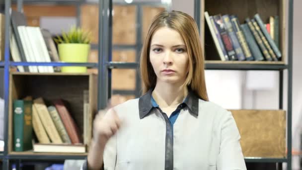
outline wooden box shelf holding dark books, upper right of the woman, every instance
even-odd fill
[[[253,18],[256,13],[259,13],[264,23],[268,22],[269,16],[279,16],[279,49],[282,55],[282,61],[287,61],[286,55],[286,3],[287,0],[201,0],[201,40],[202,47],[206,59],[219,60],[215,43],[212,35],[208,30],[204,12],[208,11],[209,15],[229,14],[236,15],[239,23],[244,23],[245,18]],[[226,7],[227,6],[227,7]],[[238,10],[240,9],[240,10]]]

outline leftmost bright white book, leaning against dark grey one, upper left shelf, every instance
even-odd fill
[[[35,58],[32,55],[32,52],[30,50],[30,46],[28,45],[28,43],[26,43],[26,41],[28,41],[28,38],[26,36],[27,33],[26,33],[25,26],[18,26],[17,29],[18,29],[18,33],[20,35],[21,44],[22,44],[27,62],[36,62]],[[33,73],[38,73],[38,67],[29,66],[29,71],[33,72]]]

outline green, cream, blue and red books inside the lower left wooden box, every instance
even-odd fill
[[[84,95],[85,93],[84,91]],[[91,138],[88,135],[91,125],[84,122],[82,137],[66,104],[67,101],[63,99],[55,99],[48,101],[46,105],[42,97],[32,99],[31,96],[13,100],[14,151],[85,153],[87,138]],[[87,104],[84,101],[84,107]],[[83,114],[83,121],[91,119],[87,117],[88,111],[89,109],[84,108],[86,113]]]

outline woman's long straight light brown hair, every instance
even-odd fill
[[[189,72],[184,85],[187,85],[200,98],[208,101],[205,82],[204,56],[202,54],[198,27],[195,20],[180,11],[163,11],[151,23],[141,53],[140,71],[143,81],[143,94],[156,85],[156,75],[150,62],[150,43],[153,33],[161,27],[176,30],[185,42],[189,56]]]

